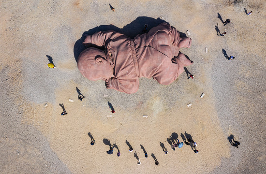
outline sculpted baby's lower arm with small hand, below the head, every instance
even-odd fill
[[[120,92],[132,94],[138,91],[139,79],[137,76],[131,79],[128,79],[128,76],[112,77],[105,81],[105,85],[107,89],[116,89]]]

